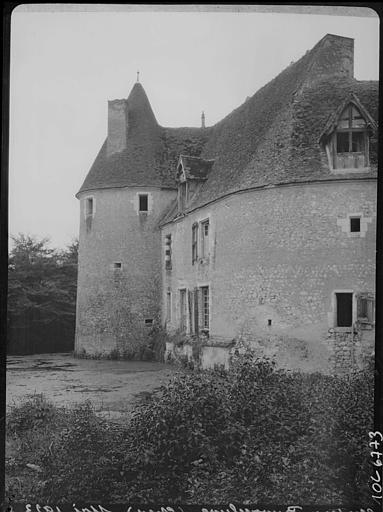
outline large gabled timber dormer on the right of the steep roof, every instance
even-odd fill
[[[332,172],[367,172],[370,136],[377,130],[371,115],[351,94],[328,120],[321,135]]]

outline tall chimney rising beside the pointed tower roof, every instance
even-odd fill
[[[127,131],[126,100],[108,101],[108,156],[119,153],[126,148]]]

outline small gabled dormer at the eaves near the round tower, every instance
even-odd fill
[[[183,212],[198,186],[206,181],[214,160],[180,155],[176,170],[178,184],[178,212]]]

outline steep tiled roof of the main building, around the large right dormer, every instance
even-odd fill
[[[336,36],[326,38],[213,127],[201,157],[214,158],[214,165],[187,211],[247,188],[339,179],[329,169],[320,136],[351,94],[377,120],[378,82],[357,81],[336,70],[330,76],[313,74],[316,60],[324,61],[323,53],[332,50],[322,43],[332,43]],[[371,138],[370,162],[367,176],[375,176],[376,134]]]

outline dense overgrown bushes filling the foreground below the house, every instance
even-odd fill
[[[40,439],[30,500],[371,503],[371,371],[293,373],[246,354],[230,372],[177,374],[125,425],[41,403],[8,416],[10,439]]]

